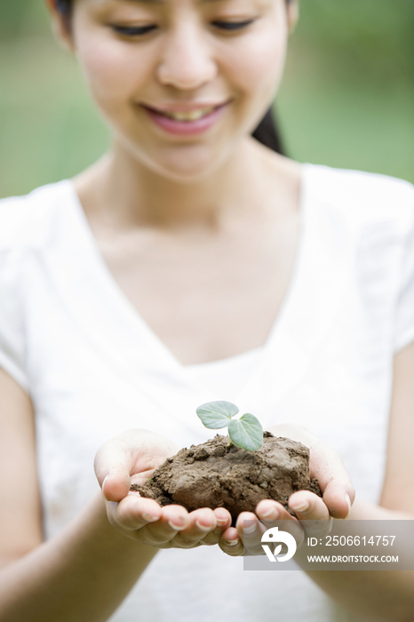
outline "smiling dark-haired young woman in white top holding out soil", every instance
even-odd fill
[[[414,517],[413,188],[251,136],[296,0],[47,4],[113,140],[0,203],[0,622],[409,620],[412,573],[243,572],[277,518],[305,541],[274,501],[129,489],[226,399],[310,447],[314,534]]]

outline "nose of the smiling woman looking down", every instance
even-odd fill
[[[217,65],[211,46],[205,41],[201,28],[181,23],[169,33],[163,48],[163,58],[157,68],[161,84],[193,91],[217,75]]]

